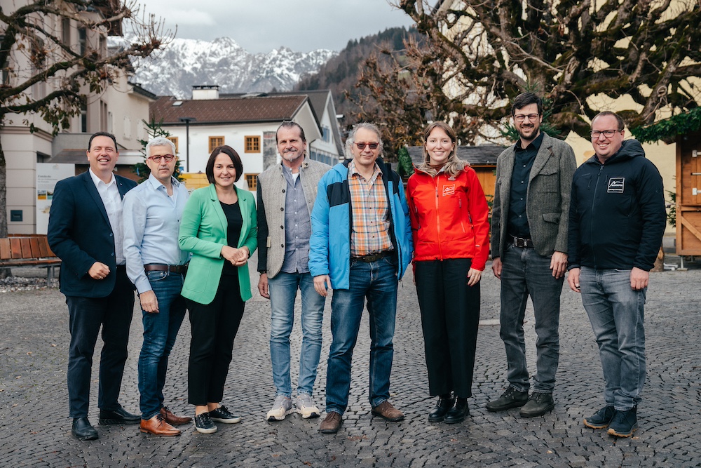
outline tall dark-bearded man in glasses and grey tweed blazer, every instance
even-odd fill
[[[501,339],[506,348],[509,386],[486,409],[522,407],[522,417],[554,408],[552,390],[559,360],[560,293],[567,266],[567,224],[572,148],[540,131],[543,101],[518,95],[511,115],[519,140],[496,162],[491,218],[494,276],[501,279]],[[524,313],[531,296],[536,319],[536,374],[529,398]]]

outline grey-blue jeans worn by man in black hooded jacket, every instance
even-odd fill
[[[582,303],[599,345],[606,406],[625,411],[637,406],[645,382],[646,289],[630,287],[629,269],[582,267]]]

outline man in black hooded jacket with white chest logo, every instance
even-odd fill
[[[638,427],[645,382],[643,308],[649,272],[665,234],[662,177],[623,119],[592,119],[595,155],[574,173],[569,220],[572,290],[592,323],[604,370],[606,406],[585,418],[592,429],[629,437]]]

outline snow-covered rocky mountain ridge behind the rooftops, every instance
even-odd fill
[[[228,37],[211,42],[173,39],[155,57],[135,61],[131,81],[157,95],[180,99],[191,98],[193,85],[219,85],[219,93],[290,91],[303,74],[316,72],[336,54],[325,49],[300,53],[286,47],[252,54]]]

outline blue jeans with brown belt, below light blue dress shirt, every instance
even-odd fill
[[[139,354],[139,409],[149,420],[163,408],[163,387],[168,371],[168,356],[175,345],[185,317],[185,300],[180,295],[182,274],[147,272],[151,289],[158,299],[158,313],[144,312],[144,344]]]

